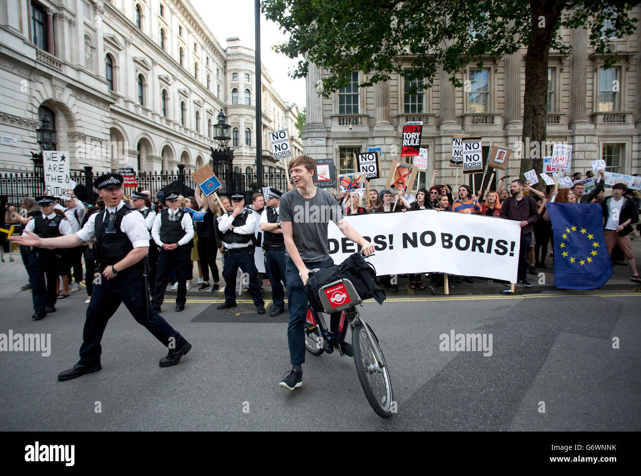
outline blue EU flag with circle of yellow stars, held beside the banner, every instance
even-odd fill
[[[598,203],[547,203],[554,235],[554,285],[599,289],[612,276]]]

